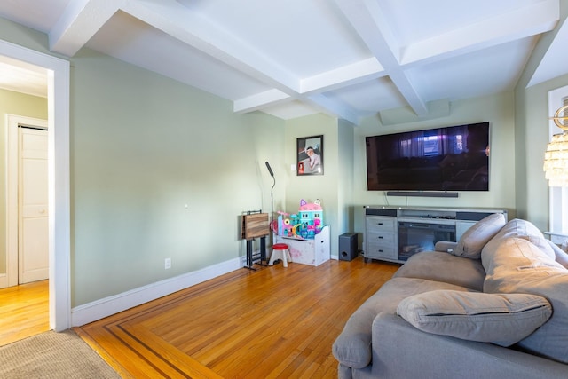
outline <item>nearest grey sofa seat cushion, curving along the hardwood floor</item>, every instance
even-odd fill
[[[382,312],[396,314],[398,303],[404,298],[436,289],[469,291],[452,284],[415,278],[393,278],[384,283],[345,323],[332,347],[335,359],[347,367],[367,367],[372,357],[371,331],[375,317]]]

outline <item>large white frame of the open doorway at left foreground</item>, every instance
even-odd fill
[[[0,55],[18,59],[47,72],[48,178],[49,178],[49,308],[50,328],[71,326],[71,196],[69,176],[69,71],[68,60],[52,57],[0,40]]]

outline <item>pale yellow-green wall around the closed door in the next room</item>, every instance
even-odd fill
[[[0,89],[0,274],[6,273],[6,114],[47,120],[47,99]]]

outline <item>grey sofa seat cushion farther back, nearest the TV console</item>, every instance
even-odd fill
[[[393,278],[421,278],[483,290],[485,270],[479,259],[463,259],[441,251],[424,251],[409,257]]]

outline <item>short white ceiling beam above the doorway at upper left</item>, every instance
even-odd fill
[[[71,0],[49,34],[50,50],[73,57],[124,1]]]

